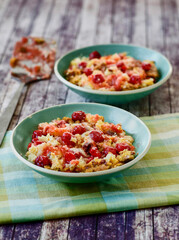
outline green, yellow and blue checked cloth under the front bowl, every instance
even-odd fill
[[[58,183],[0,149],[0,223],[64,218],[179,203],[179,114],[145,117],[152,133],[147,155],[117,178]]]

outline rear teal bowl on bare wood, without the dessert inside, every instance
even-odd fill
[[[69,81],[67,81],[64,77],[64,72],[69,67],[71,60],[76,57],[89,56],[89,54],[95,50],[100,52],[101,55],[127,52],[129,56],[132,56],[142,61],[153,60],[155,61],[157,69],[159,70],[160,78],[158,78],[157,82],[154,85],[149,87],[140,88],[136,90],[115,92],[85,89],[83,87],[76,86],[75,84],[72,84]],[[170,62],[167,60],[167,58],[164,57],[161,53],[151,50],[149,48],[133,45],[106,44],[85,47],[67,53],[65,56],[56,61],[54,71],[57,78],[77,94],[85,98],[88,98],[94,102],[117,105],[121,103],[128,103],[139,98],[143,98],[148,94],[152,93],[164,82],[166,82],[167,79],[169,79],[172,73],[172,66]]]

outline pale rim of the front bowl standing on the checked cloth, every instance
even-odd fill
[[[44,110],[47,110],[47,109],[50,109],[50,108],[54,108],[54,107],[60,107],[60,106],[66,106],[66,105],[80,105],[80,104],[84,104],[84,103],[69,103],[69,104],[59,104],[59,105],[55,105],[55,106],[52,106],[52,107],[48,107],[48,108],[44,108],[44,109],[41,109],[39,111],[36,111],[34,112],[33,114],[27,116],[25,119],[23,119],[12,131],[12,134],[11,134],[11,137],[10,137],[10,146],[11,146],[11,149],[13,151],[13,153],[15,154],[15,156],[21,160],[23,163],[25,163],[27,166],[29,166],[30,168],[38,171],[38,172],[42,172],[42,173],[45,173],[45,174],[50,174],[50,175],[53,175],[53,176],[59,176],[59,177],[65,177],[65,178],[85,178],[85,177],[90,177],[90,178],[93,178],[93,177],[97,177],[97,176],[103,176],[103,175],[108,175],[108,174],[112,174],[112,173],[116,173],[116,172],[119,172],[126,169],[126,168],[129,168],[131,166],[133,166],[135,163],[137,163],[140,159],[143,158],[143,156],[148,152],[150,146],[151,146],[151,133],[148,129],[148,127],[145,125],[145,123],[140,119],[138,118],[137,116],[135,116],[134,114],[124,110],[124,109],[121,109],[121,108],[117,108],[117,107],[113,107],[113,106],[110,106],[110,105],[106,105],[106,104],[100,104],[100,103],[85,103],[87,105],[99,105],[99,106],[107,106],[107,107],[112,107],[112,108],[117,108],[119,109],[120,111],[124,112],[124,113],[128,113],[129,115],[132,115],[134,117],[135,120],[139,121],[146,129],[147,133],[148,133],[148,136],[149,136],[149,139],[148,139],[148,143],[147,143],[147,146],[146,148],[143,150],[143,152],[141,154],[139,154],[136,158],[134,158],[132,161],[128,162],[128,163],[125,163],[124,165],[122,166],[118,166],[116,168],[111,168],[111,169],[107,169],[107,170],[103,170],[103,171],[97,171],[97,172],[89,172],[89,173],[66,173],[66,172],[60,172],[60,171],[55,171],[55,170],[51,170],[51,169],[45,169],[45,168],[42,168],[42,167],[38,167],[36,166],[35,164],[31,163],[30,161],[28,161],[27,159],[25,159],[24,157],[22,157],[15,149],[14,147],[14,144],[13,144],[13,137],[14,137],[14,133],[16,131],[16,129],[19,127],[19,125],[21,125],[22,122],[24,122],[26,119],[28,118],[31,118],[34,114],[36,113],[39,113],[41,111],[44,111]]]

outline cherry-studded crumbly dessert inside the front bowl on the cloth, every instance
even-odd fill
[[[61,172],[97,172],[121,166],[135,157],[134,139],[121,124],[104,122],[83,111],[43,122],[32,134],[27,159]]]

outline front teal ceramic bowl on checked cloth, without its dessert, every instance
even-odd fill
[[[86,113],[102,115],[107,122],[115,124],[122,123],[123,129],[128,134],[132,135],[135,140],[134,146],[136,147],[136,153],[138,153],[136,158],[123,166],[93,173],[57,172],[38,167],[26,159],[25,153],[27,151],[27,145],[31,141],[32,132],[37,129],[39,123],[50,122],[57,117],[71,117],[71,114],[74,111],[79,110]],[[137,163],[147,153],[150,144],[151,134],[146,125],[139,118],[120,108],[95,103],[64,104],[41,110],[19,123],[19,125],[13,130],[11,136],[11,147],[19,160],[44,176],[55,178],[62,182],[71,183],[95,182],[119,175],[122,171]]]

